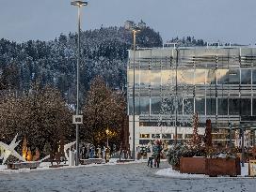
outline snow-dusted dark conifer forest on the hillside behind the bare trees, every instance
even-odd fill
[[[117,89],[126,83],[128,49],[132,33],[123,27],[107,27],[82,32],[80,91],[88,90],[96,75]],[[139,47],[159,47],[162,38],[150,27],[137,36]],[[33,82],[57,87],[72,102],[76,88],[77,34],[60,35],[52,41],[24,43],[0,40],[0,90],[29,90]]]

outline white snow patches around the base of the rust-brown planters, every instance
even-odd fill
[[[180,171],[172,170],[171,168],[158,170],[155,172],[156,175],[160,176],[167,176],[167,177],[173,177],[173,178],[207,178],[208,175],[204,174],[186,174],[186,173],[180,173]],[[248,175],[248,163],[245,163],[245,167],[241,166],[241,175],[238,177],[245,177]]]

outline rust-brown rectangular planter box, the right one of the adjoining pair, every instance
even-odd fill
[[[239,158],[206,158],[206,174],[217,175],[241,175]]]

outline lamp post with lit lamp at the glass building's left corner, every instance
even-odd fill
[[[139,29],[133,29],[134,37],[134,84],[133,84],[133,158],[136,160],[136,34]]]

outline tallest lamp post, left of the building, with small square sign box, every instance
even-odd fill
[[[77,65],[76,65],[76,111],[75,114],[79,114],[79,66],[80,66],[80,8],[87,6],[88,2],[85,1],[72,1],[71,3],[72,6],[78,7],[78,34],[77,34]],[[75,132],[76,132],[76,156],[75,156],[75,165],[79,165],[79,126],[78,124],[75,125]]]

